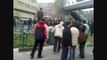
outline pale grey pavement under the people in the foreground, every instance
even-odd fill
[[[60,51],[60,53],[54,54],[52,49],[53,49],[52,46],[46,46],[46,47],[44,47],[43,54],[42,54],[44,56],[44,58],[37,59],[38,52],[36,51],[34,59],[30,59],[30,52],[31,51],[19,52],[18,49],[16,48],[16,49],[14,49],[14,60],[60,60],[61,51]],[[76,60],[93,60],[93,55],[91,55],[92,47],[86,47],[85,59],[78,58],[78,54],[79,54],[78,50],[79,49],[77,47]]]

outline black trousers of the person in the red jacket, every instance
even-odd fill
[[[31,56],[33,57],[34,56],[34,53],[37,49],[37,46],[39,44],[39,52],[38,52],[38,57],[41,56],[42,54],[42,49],[43,49],[43,45],[44,45],[44,40],[35,40],[35,43],[34,43],[34,46],[33,46],[33,49],[32,49],[32,53],[31,53]]]

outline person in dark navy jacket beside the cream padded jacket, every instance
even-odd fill
[[[71,44],[71,31],[70,31],[70,21],[65,21],[64,30],[63,30],[63,37],[62,37],[62,54],[61,60],[67,60],[68,57],[68,50]]]

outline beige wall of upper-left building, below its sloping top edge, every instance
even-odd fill
[[[32,6],[28,7],[26,5],[23,5],[22,3],[14,0],[13,15],[18,17],[34,18],[36,16],[37,9]]]

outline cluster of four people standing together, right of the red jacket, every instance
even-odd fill
[[[55,44],[53,51],[59,52],[62,45],[61,60],[67,60],[68,51],[70,50],[69,60],[75,59],[75,49],[79,43],[79,57],[85,58],[85,43],[88,38],[89,26],[83,21],[83,24],[77,24],[73,18],[68,21],[57,24],[54,32]],[[58,43],[58,44],[57,44]],[[58,48],[57,48],[58,46]],[[57,51],[56,51],[57,50]]]

